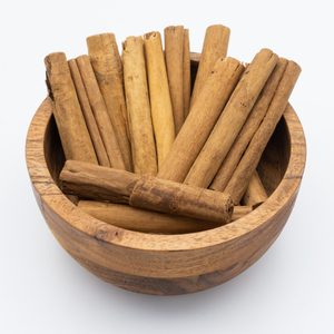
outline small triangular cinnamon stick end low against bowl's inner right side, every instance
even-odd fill
[[[242,198],[242,204],[245,206],[258,206],[259,204],[264,203],[267,198],[267,193],[262,184],[257,171],[255,170]]]

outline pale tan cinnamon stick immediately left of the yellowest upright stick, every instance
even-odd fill
[[[122,43],[122,63],[134,169],[155,176],[158,166],[141,37],[128,37]]]

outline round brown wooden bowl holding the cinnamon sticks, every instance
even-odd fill
[[[177,235],[131,232],[106,224],[81,212],[60,191],[58,176],[65,157],[48,98],[31,121],[26,158],[46,223],[79,264],[128,291],[178,295],[237,276],[271,247],[294,207],[306,146],[302,125],[288,105],[258,166],[269,198],[225,226]]]

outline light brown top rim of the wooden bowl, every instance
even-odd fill
[[[45,159],[45,134],[51,115],[52,104],[47,97],[31,120],[26,140],[27,168],[43,216],[43,205],[47,205],[56,216],[81,233],[121,247],[156,252],[191,250],[243,238],[253,230],[275,222],[274,217],[279,216],[279,212],[286,204],[294,205],[305,169],[305,135],[295,110],[288,104],[283,115],[291,136],[287,169],[275,191],[257,209],[227,225],[189,234],[158,235],[128,230],[84,213],[60,191],[53,181]]]

